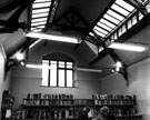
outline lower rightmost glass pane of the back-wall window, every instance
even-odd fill
[[[72,70],[67,70],[67,87],[72,87],[73,78],[72,78]]]

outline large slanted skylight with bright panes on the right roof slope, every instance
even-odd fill
[[[116,30],[133,11],[134,7],[123,0],[116,0],[116,2],[108,9],[103,17],[93,27],[93,31],[107,38],[113,30]]]

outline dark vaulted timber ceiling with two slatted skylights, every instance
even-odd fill
[[[72,49],[89,66],[109,68],[120,60],[128,67],[150,57],[149,50],[114,50],[107,44],[118,41],[149,46],[149,23],[148,0],[0,0],[0,41],[8,59],[38,40],[27,38],[24,32],[37,31],[81,39]],[[108,73],[106,70],[101,77]]]

